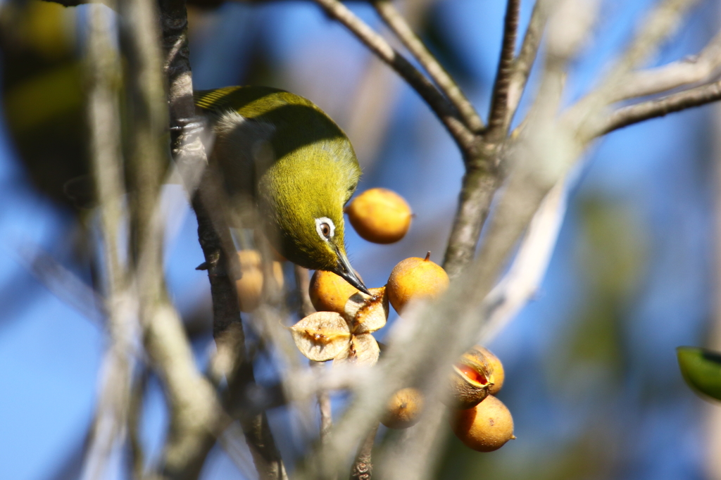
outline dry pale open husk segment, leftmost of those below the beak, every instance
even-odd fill
[[[350,329],[340,314],[319,311],[291,326],[296,347],[316,362],[333,360],[350,347]]]

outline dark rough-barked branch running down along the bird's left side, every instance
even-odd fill
[[[195,119],[185,1],[164,0],[160,6],[167,55],[165,71],[169,82],[171,125],[183,128],[191,119]],[[245,337],[234,284],[234,278],[237,277],[233,273],[236,270],[235,249],[222,214],[224,199],[213,194],[218,192],[218,188],[212,172],[205,169],[207,156],[197,130],[190,135],[181,134],[174,142],[173,154],[186,187],[191,192],[193,209],[198,218],[198,240],[203,249],[213,298],[213,337],[218,352],[234,358],[231,363],[234,368],[226,373],[226,410],[231,412],[231,416],[240,419],[260,478],[283,479],[285,470],[265,413],[247,417],[234,409],[234,404],[244,394],[245,388],[255,382],[255,378],[251,361],[245,352]],[[195,190],[198,180],[200,185]],[[201,432],[201,435],[203,433],[205,437],[199,439],[202,446],[198,448],[195,458],[187,458],[190,465],[202,466],[205,456],[215,443],[213,432]]]

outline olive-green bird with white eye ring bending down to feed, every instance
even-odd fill
[[[211,125],[211,168],[239,215],[257,212],[291,262],[368,293],[345,254],[343,206],[361,167],[340,127],[309,100],[265,86],[198,91],[195,105]]]

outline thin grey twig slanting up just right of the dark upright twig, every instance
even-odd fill
[[[531,21],[528,22],[526,35],[523,36],[523,44],[518,56],[513,60],[513,74],[508,85],[508,110],[505,117],[505,128],[510,126],[513,115],[516,115],[518,104],[528,84],[528,76],[531,75],[538,55],[541,38],[543,38],[544,27],[546,26],[548,14],[547,9],[542,7],[543,2],[536,1],[534,10],[531,12]]]

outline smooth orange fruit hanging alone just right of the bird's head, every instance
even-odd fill
[[[348,220],[363,239],[392,244],[410,228],[412,213],[403,197],[386,188],[371,188],[345,208]]]

